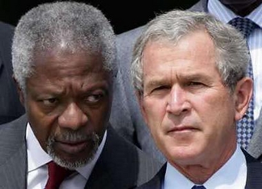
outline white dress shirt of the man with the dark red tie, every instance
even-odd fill
[[[107,131],[103,135],[103,140],[99,145],[97,153],[94,158],[86,166],[77,168],[77,174],[73,174],[68,179],[62,182],[60,189],[82,189],[84,188],[94,164],[96,164],[99,158],[103,146],[105,146]],[[37,138],[35,137],[30,124],[28,123],[26,128],[26,143],[28,152],[28,189],[43,189],[48,181],[48,166],[46,165],[52,159],[43,151]]]

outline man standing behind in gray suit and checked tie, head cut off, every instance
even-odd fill
[[[193,3],[193,2],[192,2]],[[237,139],[239,144],[247,149],[253,157],[262,162],[262,1],[261,0],[199,0],[189,10],[209,12],[223,23],[230,23],[245,33],[250,50],[249,76],[254,78],[254,94],[246,116],[239,120]],[[114,119],[114,126],[118,133],[136,144],[152,157],[165,161],[163,154],[157,151],[150,132],[143,122],[139,103],[134,98],[134,89],[131,85],[130,62],[134,42],[141,34],[143,26],[134,28],[117,35],[117,63],[119,67],[119,88],[117,93],[125,103],[117,103],[119,98],[113,99],[113,107],[117,104],[119,112],[125,112],[124,117]],[[248,32],[245,32],[248,31]],[[254,104],[254,106],[252,106]],[[117,114],[117,112],[114,112]],[[118,120],[125,124],[117,124]]]

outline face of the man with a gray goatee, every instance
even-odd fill
[[[110,74],[99,55],[84,52],[39,52],[34,63],[22,97],[34,135],[61,166],[83,166],[97,151],[108,124]]]

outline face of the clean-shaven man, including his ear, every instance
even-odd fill
[[[143,53],[141,109],[168,161],[208,167],[231,155],[236,147],[235,121],[248,100],[239,88],[243,82],[250,94],[252,81],[244,78],[230,93],[205,31],[184,36],[176,46],[149,42]]]

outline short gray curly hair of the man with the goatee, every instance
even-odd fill
[[[116,69],[112,26],[92,5],[63,1],[43,3],[21,17],[14,31],[12,66],[21,89],[34,73],[36,52],[63,47],[70,52],[100,53],[103,67]]]

